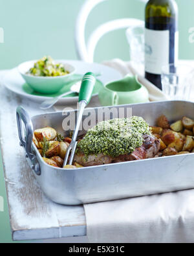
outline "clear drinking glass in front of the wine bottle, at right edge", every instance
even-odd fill
[[[162,67],[162,91],[169,100],[189,100],[193,87],[194,69],[184,64]]]

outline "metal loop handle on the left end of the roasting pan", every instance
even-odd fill
[[[32,138],[33,138],[33,125],[30,116],[28,115],[27,111],[22,107],[19,106],[16,110],[16,119],[17,119],[17,129],[19,134],[19,139],[21,142],[21,146],[25,148],[26,157],[30,160],[31,169],[34,170],[36,175],[41,175],[40,166],[38,163],[38,159],[36,158],[36,154],[32,152]],[[25,137],[23,137],[23,126],[22,122],[25,125]]]

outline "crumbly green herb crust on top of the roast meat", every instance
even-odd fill
[[[83,152],[86,157],[101,153],[111,157],[131,154],[144,143],[144,134],[151,135],[151,132],[142,117],[103,121],[88,130],[78,143],[77,152]]]

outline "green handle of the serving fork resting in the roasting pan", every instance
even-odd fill
[[[89,102],[91,101],[92,92],[94,90],[95,84],[96,77],[94,73],[89,72],[83,76],[79,94],[79,102],[83,100],[86,102],[86,104],[89,104]]]

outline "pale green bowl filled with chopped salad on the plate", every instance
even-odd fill
[[[31,67],[34,66],[34,63],[37,62],[37,60],[32,60],[29,62],[24,62],[23,64],[20,64],[18,66],[19,73],[21,76],[24,78],[24,80],[27,82],[27,84],[34,89],[34,91],[37,91],[38,93],[43,93],[43,94],[53,94],[53,93],[58,93],[58,91],[70,80],[72,79],[72,75],[76,72],[76,69],[67,63],[62,63],[69,71],[68,75],[65,76],[32,76],[32,75],[27,75],[27,72]],[[56,61],[58,62],[58,61]]]

